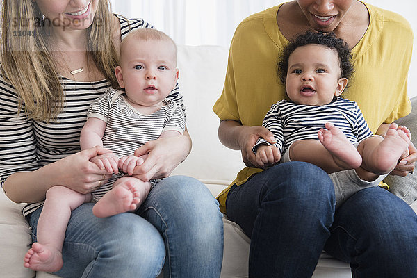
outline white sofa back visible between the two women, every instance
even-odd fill
[[[173,174],[195,177],[206,184],[229,185],[245,165],[240,151],[218,140],[220,120],[212,110],[220,97],[228,49],[219,46],[179,46],[179,88],[186,104],[193,149]]]

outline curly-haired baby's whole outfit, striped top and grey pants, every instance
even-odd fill
[[[329,104],[322,106],[295,104],[288,100],[278,101],[271,106],[262,125],[274,134],[277,140],[274,145],[282,154],[281,162],[287,162],[291,161],[286,154],[291,143],[296,140],[318,140],[317,133],[325,127],[327,122],[341,129],[352,144],[373,136],[357,103],[342,97],[337,97]],[[256,152],[256,147],[261,144],[271,145],[260,138],[253,147],[253,151]],[[334,184],[335,207],[338,208],[359,190],[377,186],[386,174],[380,175],[375,181],[364,181],[354,169],[349,169],[334,172],[329,174],[329,177]]]

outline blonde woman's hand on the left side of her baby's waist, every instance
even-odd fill
[[[91,160],[108,153],[111,151],[96,146],[57,161],[54,173],[55,185],[66,186],[82,194],[96,190],[108,181],[111,173],[108,173],[106,169],[101,170]]]

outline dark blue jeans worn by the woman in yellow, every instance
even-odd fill
[[[353,277],[416,277],[417,215],[382,188],[367,188],[334,213],[334,186],[320,168],[275,165],[227,196],[229,220],[251,238],[250,277],[311,277],[323,249]]]

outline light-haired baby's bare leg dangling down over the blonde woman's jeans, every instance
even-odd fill
[[[90,200],[90,194],[81,194],[65,186],[49,188],[38,221],[38,242],[33,243],[24,256],[26,268],[47,272],[62,268],[61,252],[71,211]]]

